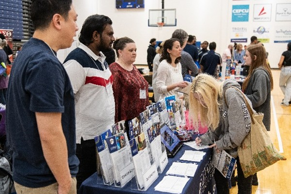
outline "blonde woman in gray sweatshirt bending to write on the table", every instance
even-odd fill
[[[233,87],[241,89],[234,80],[219,82],[210,75],[199,74],[194,78],[191,88],[189,112],[193,123],[198,123],[200,117],[201,124],[209,128],[204,135],[195,139],[196,144],[210,145],[217,151],[225,150],[236,158],[239,194],[251,194],[252,176],[244,178],[237,152],[237,147],[241,146],[250,131],[251,118],[243,94]],[[249,100],[248,103],[251,105]],[[229,194],[228,180],[217,169],[214,179],[217,194]]]

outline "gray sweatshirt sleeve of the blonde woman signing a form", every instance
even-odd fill
[[[242,140],[250,131],[251,118],[242,93],[234,88],[225,92],[228,110],[225,105],[221,111],[221,135],[216,145],[219,149],[232,149],[242,144]],[[249,101],[251,105],[251,102]],[[252,105],[251,105],[252,106]],[[217,129],[216,129],[217,130]],[[219,129],[218,129],[219,130]]]

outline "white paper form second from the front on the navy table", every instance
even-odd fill
[[[173,162],[166,175],[194,177],[198,165],[194,163]]]

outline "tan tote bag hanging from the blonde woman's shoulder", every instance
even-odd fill
[[[233,88],[242,93],[238,88]],[[263,124],[264,114],[254,113],[243,93],[242,96],[252,120],[249,134],[242,141],[242,145],[238,146],[243,175],[247,178],[279,160],[286,160],[286,158],[274,147]]]

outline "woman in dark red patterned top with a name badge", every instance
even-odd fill
[[[113,49],[117,61],[109,68],[113,75],[113,95],[115,100],[115,123],[129,120],[146,110],[149,105],[148,83],[133,65],[136,45],[128,37],[114,41]]]

